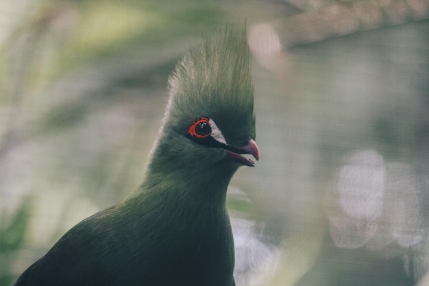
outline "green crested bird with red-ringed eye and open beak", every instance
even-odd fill
[[[73,226],[14,286],[235,285],[226,193],[259,159],[249,58],[245,26],[186,52],[140,187]]]

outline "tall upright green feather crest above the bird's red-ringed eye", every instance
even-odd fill
[[[245,29],[227,26],[191,49],[169,79],[165,127],[178,132],[199,117],[213,119],[232,145],[255,136],[254,88]]]

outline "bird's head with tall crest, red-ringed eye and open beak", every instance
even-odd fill
[[[245,30],[227,27],[186,53],[169,91],[158,142],[164,156],[183,166],[254,166],[245,156],[259,159]]]

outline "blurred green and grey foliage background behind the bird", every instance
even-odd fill
[[[237,286],[429,285],[428,0],[2,0],[0,285],[139,186],[167,78],[247,21]]]

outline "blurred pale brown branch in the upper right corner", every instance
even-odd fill
[[[306,12],[271,24],[278,31],[282,45],[293,47],[366,29],[428,19],[428,7],[428,0],[309,0],[298,6]]]

